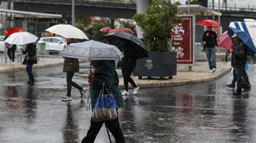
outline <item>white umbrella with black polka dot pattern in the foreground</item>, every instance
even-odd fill
[[[116,46],[94,40],[70,44],[58,56],[83,60],[122,60],[124,57]]]

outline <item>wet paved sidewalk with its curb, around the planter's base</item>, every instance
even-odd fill
[[[197,62],[196,66],[192,67],[192,71],[188,71],[188,67],[177,67],[177,75],[173,76],[172,79],[168,79],[166,77],[164,80],[159,80],[158,78],[148,80],[144,77],[143,80],[138,80],[138,77],[134,76],[132,76],[132,78],[140,88],[165,87],[170,85],[185,85],[216,80],[230,72],[231,69],[232,67],[230,62],[217,62],[216,72],[210,73],[210,69],[208,69],[208,62]],[[120,78],[119,81],[120,89],[124,89],[123,78]],[[129,88],[133,88],[130,83]]]

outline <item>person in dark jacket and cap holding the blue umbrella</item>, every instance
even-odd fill
[[[237,78],[237,90],[234,92],[234,95],[241,95],[242,74],[246,65],[247,50],[244,42],[242,42],[237,34],[234,34],[232,37],[235,43],[233,49],[230,49],[230,52],[232,52],[231,66],[234,67],[235,76]]]

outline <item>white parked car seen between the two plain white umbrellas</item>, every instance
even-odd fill
[[[37,42],[38,46],[37,48],[39,51],[44,51],[42,45],[45,46],[45,51],[49,52],[49,54],[52,53],[59,53],[62,51],[64,44],[65,44],[65,38],[63,37],[42,37]]]

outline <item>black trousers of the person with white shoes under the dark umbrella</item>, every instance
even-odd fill
[[[133,86],[133,88],[137,88],[137,85],[134,83],[134,81],[131,78],[133,68],[126,68],[122,69],[122,74],[124,78],[124,88],[126,91],[128,91],[128,82],[130,82]]]

